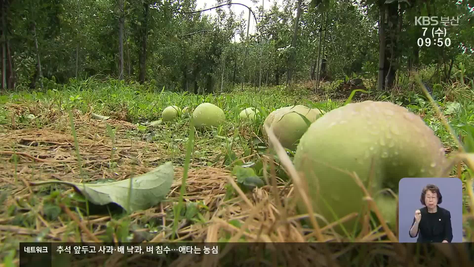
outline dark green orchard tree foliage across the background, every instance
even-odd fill
[[[396,48],[400,58],[395,66],[408,67],[404,59],[419,51],[419,66],[441,63],[434,76],[427,77],[430,82],[439,83],[458,75],[459,63],[466,60],[459,55],[472,54],[471,2],[410,1],[408,5],[401,1],[405,12],[399,38],[403,45]],[[292,49],[296,52],[293,76],[297,81],[311,76],[308,74],[314,72],[319,53],[320,58],[327,59],[328,73],[335,80],[353,73],[374,78],[378,69],[377,23],[381,3],[303,1],[300,37],[295,48],[290,44],[296,2],[290,0],[254,10],[251,20],[258,23],[251,26],[256,30],[250,32],[248,41],[244,20],[247,13],[235,14],[231,5],[214,9],[216,15],[210,16],[196,12],[199,10],[194,0],[126,0],[123,13],[114,0],[12,1],[7,14],[11,28],[8,38],[19,86],[28,86],[39,78],[31,32],[33,22],[43,75],[48,81],[62,84],[76,78],[76,62],[78,79],[100,73],[118,76],[118,19],[122,15],[125,76],[138,80],[140,62],[146,61],[145,81],[153,83],[156,89],[165,86],[170,90],[210,93],[228,91],[241,82],[253,86],[281,84]],[[422,27],[414,25],[414,18],[430,12],[460,17],[458,26],[446,28],[450,47],[418,48]],[[448,73],[451,61],[454,64]],[[472,74],[472,70],[466,69],[465,74]]]

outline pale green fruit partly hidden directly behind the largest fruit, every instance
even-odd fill
[[[270,113],[264,124],[272,128],[273,133],[283,147],[295,150],[296,142],[308,129],[308,124],[301,115],[305,116],[310,123],[316,121],[321,112],[315,108],[309,108],[304,105],[286,106]],[[263,131],[265,138],[268,135]]]

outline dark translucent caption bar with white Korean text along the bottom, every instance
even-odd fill
[[[464,255],[470,255],[468,261],[474,266],[474,243],[447,243],[438,244],[448,250],[455,249],[458,252],[464,251]],[[232,245],[232,249],[226,252],[226,247]],[[287,255],[292,257],[291,261],[298,260],[301,257],[319,258],[325,255],[326,251],[337,252],[345,251],[344,257],[356,257],[360,253],[367,254],[370,251],[394,251],[396,247],[403,246],[410,254],[416,255],[420,251],[431,254],[438,251],[439,246],[433,246],[432,243],[386,243],[386,242],[330,242],[330,243],[198,243],[198,242],[176,242],[176,243],[64,243],[64,242],[37,242],[20,243],[19,246],[19,267],[56,267],[56,266],[75,266],[74,264],[83,264],[84,262],[100,261],[105,262],[110,256],[128,258],[137,263],[143,262],[173,262],[180,257],[192,257],[192,260],[198,260],[201,257],[211,257],[214,260],[230,261],[225,266],[235,266],[236,259],[248,259],[256,257],[259,254],[271,252],[272,259],[280,259]],[[423,246],[420,249],[420,246]],[[270,249],[270,250],[267,250]],[[266,251],[266,252],[265,252]],[[285,252],[283,252],[285,251]],[[430,252],[431,251],[431,252]],[[276,252],[276,253],[275,253]],[[222,253],[225,253],[225,257]],[[369,254],[372,254],[370,252]],[[377,254],[377,253],[376,253]],[[444,257],[443,253],[439,254]],[[303,256],[302,256],[303,255]],[[459,254],[462,255],[462,254]],[[293,259],[294,257],[294,259]],[[342,256],[341,256],[342,257]],[[357,256],[358,257],[358,256]],[[397,255],[390,256],[393,260],[400,260]],[[425,257],[425,256],[420,256]],[[339,258],[340,259],[340,258]],[[342,259],[342,260],[345,260]],[[451,259],[452,260],[452,259]],[[72,265],[71,265],[72,264]],[[224,265],[223,265],[224,266]],[[344,265],[343,265],[344,266]],[[454,264],[453,266],[459,266]]]

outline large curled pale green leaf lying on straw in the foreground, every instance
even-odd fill
[[[48,183],[60,183],[73,186],[89,201],[96,205],[116,203],[128,212],[146,210],[160,203],[171,189],[174,179],[173,162],[166,162],[150,172],[137,175],[122,181],[91,184],[65,181],[30,182],[31,186]],[[132,190],[130,205],[128,206],[128,192]]]

